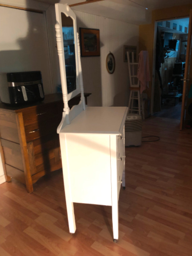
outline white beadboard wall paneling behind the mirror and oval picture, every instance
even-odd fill
[[[123,61],[123,46],[139,42],[139,26],[108,19],[84,12],[74,11],[79,28],[100,29],[100,57],[81,57],[84,92],[91,92],[89,106],[127,106],[129,79],[127,62]],[[138,47],[137,47],[138,48]],[[106,69],[109,52],[115,56],[113,74]]]

